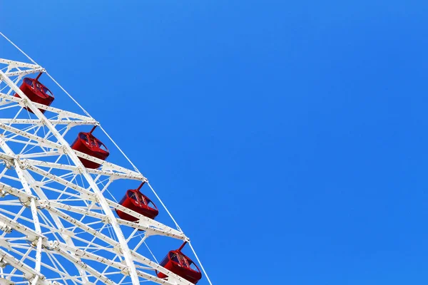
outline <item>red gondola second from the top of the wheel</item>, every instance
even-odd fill
[[[99,158],[100,160],[106,160],[108,155],[110,155],[110,152],[108,152],[106,145],[104,145],[101,140],[98,140],[98,138],[95,138],[92,135],[92,132],[95,130],[95,128],[96,126],[93,127],[89,133],[78,133],[78,136],[73,142],[73,145],[71,145],[71,148],[73,150],[86,153],[86,155]],[[86,160],[81,157],[78,157],[78,159],[83,163],[84,167],[92,169],[100,167],[100,164],[97,162],[92,162],[91,160]]]

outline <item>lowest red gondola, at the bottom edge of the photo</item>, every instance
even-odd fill
[[[192,259],[186,257],[181,249],[187,242],[181,245],[179,249],[171,250],[168,252],[166,257],[161,262],[161,266],[165,267],[169,271],[183,277],[187,281],[196,284],[202,278],[199,267],[192,261]],[[159,278],[167,277],[162,272],[157,272]]]

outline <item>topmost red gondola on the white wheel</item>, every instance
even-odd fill
[[[39,82],[40,76],[41,73],[35,79],[28,77],[24,78],[19,89],[21,89],[21,91],[24,92],[24,94],[34,103],[50,106],[52,102],[54,102],[54,94],[52,94],[51,90]],[[21,98],[18,94],[15,94],[15,97]],[[25,109],[33,113],[33,111],[31,111],[29,108]],[[41,113],[45,112],[45,110],[39,110]]]

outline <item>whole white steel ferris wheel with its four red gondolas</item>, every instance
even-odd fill
[[[148,179],[26,57],[0,55],[0,285],[211,284]]]

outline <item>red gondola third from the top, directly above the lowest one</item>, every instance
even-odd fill
[[[123,196],[119,204],[150,219],[155,219],[159,214],[158,207],[156,207],[156,204],[151,202],[151,199],[148,199],[146,195],[143,195],[143,193],[140,192],[143,185],[144,182],[137,189],[126,191],[125,196]],[[133,217],[130,214],[126,214],[118,209],[116,209],[116,213],[121,219],[126,219],[129,222],[136,222],[138,220],[138,218]]]

